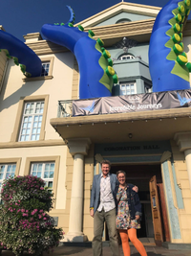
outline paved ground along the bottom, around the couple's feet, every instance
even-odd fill
[[[157,246],[145,246],[148,256],[191,256],[191,250],[169,250]],[[11,251],[2,251],[2,256],[13,256]],[[24,254],[25,255],[25,254]],[[93,256],[92,248],[75,247],[75,246],[59,246],[54,249],[53,253],[44,253],[43,256]],[[111,251],[108,246],[103,247],[103,256],[111,256]],[[120,256],[123,256],[120,246]],[[131,256],[139,256],[136,248],[131,246]]]

